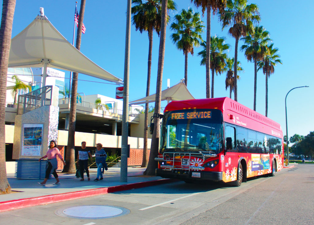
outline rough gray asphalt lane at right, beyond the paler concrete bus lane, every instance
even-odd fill
[[[314,165],[296,165],[182,224],[314,224],[313,188]]]

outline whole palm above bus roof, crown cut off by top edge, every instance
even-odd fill
[[[211,10],[213,15],[217,12],[219,14],[224,14],[226,7],[225,0],[191,0],[196,7],[202,7],[202,13],[204,16],[205,9],[206,12],[206,22],[207,22],[207,32],[206,32],[206,98],[210,98],[210,16]]]

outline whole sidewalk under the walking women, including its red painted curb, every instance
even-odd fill
[[[53,185],[56,180],[52,176],[47,181],[46,186],[37,184],[43,180],[22,180],[16,179],[13,173],[7,174],[11,189],[16,192],[0,195],[0,212],[174,181],[155,176],[140,176],[145,169],[128,167],[126,183],[120,182],[119,167],[108,168],[103,175],[104,179],[99,182],[94,181],[97,174],[96,169],[89,170],[90,181],[87,180],[86,173],[84,173],[84,181],[80,181],[80,178],[77,179],[75,174],[58,173],[61,184]]]

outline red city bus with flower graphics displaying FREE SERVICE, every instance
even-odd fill
[[[246,178],[283,168],[279,123],[228,98],[172,101],[160,130],[156,175],[216,180],[240,186]]]

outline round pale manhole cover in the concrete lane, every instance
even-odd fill
[[[76,219],[105,219],[129,214],[130,210],[119,206],[74,206],[59,209],[55,213],[58,216]]]

